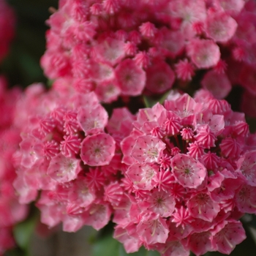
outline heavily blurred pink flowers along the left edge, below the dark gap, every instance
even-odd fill
[[[15,246],[12,227],[26,217],[27,206],[18,203],[12,182],[16,177],[12,154],[20,143],[20,130],[12,125],[18,89],[7,90],[7,83],[0,77],[0,255]]]

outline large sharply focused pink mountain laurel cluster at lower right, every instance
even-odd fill
[[[230,254],[256,214],[256,146],[244,114],[205,90],[140,109],[121,141],[123,199],[114,238],[164,256]]]

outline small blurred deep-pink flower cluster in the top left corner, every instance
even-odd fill
[[[14,36],[15,15],[5,0],[0,0],[0,62],[7,54]]]

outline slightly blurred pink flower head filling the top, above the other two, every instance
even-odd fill
[[[48,20],[41,65],[48,78],[106,103],[162,94],[197,79],[200,69],[218,73],[202,84],[218,98],[237,83],[255,92],[254,78],[232,74],[234,61],[239,69],[255,64],[252,1],[61,1]]]

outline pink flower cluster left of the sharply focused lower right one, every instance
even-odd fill
[[[60,94],[34,84],[18,102],[16,121],[23,127],[15,154],[20,203],[37,199],[49,227],[63,222],[64,230],[75,232],[105,226],[123,194],[121,154],[105,132],[108,113],[94,92]]]

